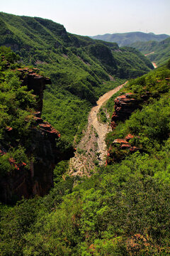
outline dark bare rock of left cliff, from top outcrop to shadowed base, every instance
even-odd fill
[[[59,132],[48,122],[43,122],[41,118],[42,96],[45,84],[50,80],[43,78],[35,70],[20,69],[22,85],[27,85],[28,90],[38,96],[37,110],[34,114],[34,122],[30,128],[29,145],[26,154],[33,157],[30,166],[26,163],[16,164],[15,159],[8,159],[13,167],[13,171],[1,176],[0,180],[0,201],[10,203],[11,201],[24,198],[31,198],[35,195],[44,196],[53,186],[52,176],[55,165],[63,160],[74,156],[74,149],[62,153],[56,146],[60,138]],[[13,128],[6,127],[6,138],[13,137]],[[23,138],[24,139],[24,138]],[[8,144],[8,142],[6,141]],[[7,145],[6,144],[6,145]],[[15,145],[11,145],[15,146]],[[8,151],[0,144],[0,155],[3,156]]]

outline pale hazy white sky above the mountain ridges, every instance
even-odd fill
[[[49,18],[84,36],[130,31],[170,35],[170,0],[6,0],[0,11]]]

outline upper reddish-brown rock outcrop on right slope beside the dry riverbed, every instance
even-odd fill
[[[130,114],[140,107],[140,104],[149,98],[149,92],[142,95],[140,99],[135,99],[135,94],[132,92],[125,93],[115,98],[115,111],[111,117],[111,127],[115,128],[117,121],[125,121],[130,117]]]

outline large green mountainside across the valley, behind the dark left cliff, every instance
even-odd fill
[[[153,68],[137,50],[72,35],[43,18],[0,13],[0,25],[0,46],[10,46],[23,63],[36,65],[52,79],[43,117],[67,142],[81,133],[79,124],[86,122],[96,99],[118,85],[113,77],[135,78]]]

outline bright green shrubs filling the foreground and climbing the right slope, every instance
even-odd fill
[[[131,132],[142,153],[91,178],[70,177],[62,161],[47,196],[1,205],[1,255],[169,255],[169,78],[168,64],[124,89],[152,97],[110,139]]]

